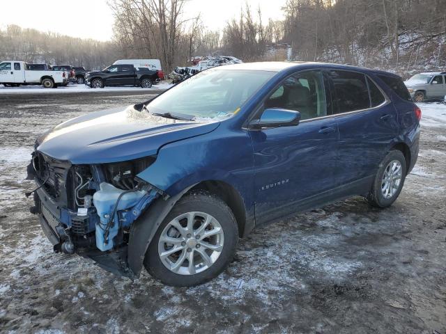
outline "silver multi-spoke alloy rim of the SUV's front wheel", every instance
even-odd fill
[[[222,253],[224,232],[220,223],[204,212],[187,212],[162,230],[158,255],[164,267],[180,275],[194,275],[211,267]]]

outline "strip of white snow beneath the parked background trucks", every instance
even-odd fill
[[[57,88],[43,88],[42,86],[20,86],[20,87],[4,87],[0,85],[0,94],[48,94],[48,93],[101,93],[101,92],[131,92],[134,90],[151,90],[151,89],[168,89],[173,86],[167,82],[162,82],[160,84],[155,84],[152,88],[141,88],[141,87],[105,87],[105,88],[90,88],[86,85],[79,84],[68,84],[66,87]]]

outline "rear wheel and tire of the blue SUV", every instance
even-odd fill
[[[380,164],[367,199],[374,207],[390,207],[397,200],[406,179],[406,158],[399,150],[390,151]]]

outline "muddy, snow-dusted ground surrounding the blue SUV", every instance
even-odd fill
[[[0,97],[1,333],[446,333],[446,122],[427,116],[390,209],[353,198],[259,228],[206,285],[132,282],[52,253],[24,198],[36,136],[146,98]]]

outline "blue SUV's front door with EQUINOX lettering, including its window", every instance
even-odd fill
[[[299,111],[299,125],[250,130],[254,149],[256,223],[305,209],[336,185],[337,124],[319,71],[300,72],[275,89],[266,108]]]

